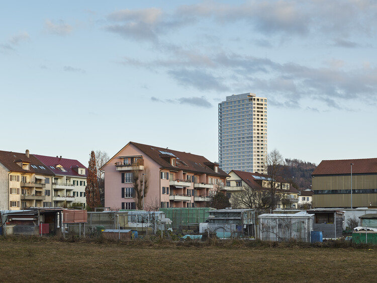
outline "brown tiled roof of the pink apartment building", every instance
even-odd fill
[[[220,168],[218,168],[218,172],[215,172],[214,170],[212,170],[206,164],[213,164],[213,163],[201,155],[196,155],[192,153],[172,150],[169,148],[166,149],[162,147],[146,145],[146,144],[141,144],[141,143],[136,143],[136,142],[130,142],[129,144],[132,144],[138,149],[140,149],[142,152],[144,152],[146,155],[152,158],[155,162],[157,162],[162,168],[171,169],[171,170],[179,169],[179,170],[190,171],[190,172],[206,173],[206,174],[217,175],[217,176],[222,176],[222,177],[229,176],[226,172],[224,172]],[[160,151],[162,151],[162,153]],[[177,164],[177,166],[172,166],[166,159],[161,158],[161,156],[170,157],[169,154],[164,154],[164,152],[172,153],[174,156],[176,156],[177,157],[176,161],[178,161],[179,164]],[[183,161],[184,163],[181,161]]]

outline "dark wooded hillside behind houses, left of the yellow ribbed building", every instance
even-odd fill
[[[301,191],[310,188],[312,173],[316,168],[315,163],[286,158],[281,172],[284,178],[292,181],[293,186]]]

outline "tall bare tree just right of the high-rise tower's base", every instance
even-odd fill
[[[280,196],[277,194],[277,178],[280,177],[281,168],[283,165],[284,159],[282,155],[277,149],[273,149],[267,155],[267,175],[268,175],[268,186],[269,186],[269,193],[271,198],[270,208],[274,210],[276,208],[276,204],[279,202]]]

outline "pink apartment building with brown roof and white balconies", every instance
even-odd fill
[[[228,177],[204,156],[135,142],[129,142],[101,169],[105,172],[105,207],[114,210],[136,209],[136,172],[148,174],[146,210],[205,207]]]

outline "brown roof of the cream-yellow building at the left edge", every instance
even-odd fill
[[[23,169],[17,162],[25,162],[30,164],[30,170]],[[0,162],[8,168],[9,171],[15,172],[27,172],[27,173],[37,173],[42,175],[53,175],[54,173],[50,168],[46,167],[40,160],[38,160],[32,154],[29,154],[29,157],[25,153],[12,152],[12,151],[3,151],[0,150]],[[34,168],[34,165],[37,168]],[[42,166],[42,167],[40,167]],[[44,169],[43,169],[44,168]]]

